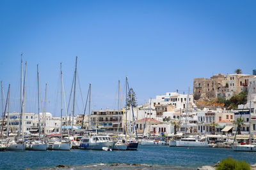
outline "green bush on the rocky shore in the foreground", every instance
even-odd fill
[[[236,159],[227,158],[221,160],[216,170],[250,170],[250,165],[244,160],[238,161]]]

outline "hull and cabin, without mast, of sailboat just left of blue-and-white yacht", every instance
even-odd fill
[[[51,138],[48,142],[48,150],[70,150],[71,145],[69,140],[60,139],[60,138]]]

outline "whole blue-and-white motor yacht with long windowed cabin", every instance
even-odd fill
[[[103,147],[112,149],[115,143],[109,136],[85,136],[81,139],[79,148],[85,150],[102,150]]]

